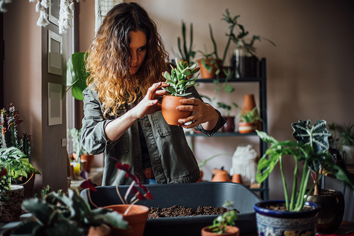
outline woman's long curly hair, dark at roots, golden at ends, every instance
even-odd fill
[[[147,37],[147,55],[139,71],[131,75],[129,66],[130,31],[142,31]],[[97,91],[104,117],[146,95],[155,82],[163,81],[168,53],[155,23],[137,3],[122,3],[113,7],[103,20],[92,42],[86,61],[91,72],[87,85]]]

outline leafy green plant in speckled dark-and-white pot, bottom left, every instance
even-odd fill
[[[12,179],[39,172],[29,164],[26,155],[14,147],[0,149],[0,168],[0,222],[18,220],[25,189],[23,185],[13,184]]]

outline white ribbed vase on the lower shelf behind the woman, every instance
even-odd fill
[[[257,173],[258,153],[252,145],[237,146],[232,157],[232,170],[234,174],[241,174],[242,183],[250,185],[255,182]]]

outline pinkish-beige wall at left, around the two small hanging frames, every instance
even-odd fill
[[[41,173],[36,175],[35,191],[47,184],[54,190],[66,190],[66,149],[61,147],[61,138],[66,137],[65,95],[63,123],[48,126],[48,82],[65,84],[65,68],[63,76],[48,73],[48,29],[57,34],[59,30],[52,23],[46,28],[36,25],[35,3],[20,0],[8,6],[4,14],[4,103],[13,103],[24,120],[18,135],[32,135],[31,163]],[[66,44],[63,36],[63,65]]]

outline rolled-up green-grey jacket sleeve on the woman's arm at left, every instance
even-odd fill
[[[103,117],[101,104],[94,92],[87,87],[83,92],[83,110],[81,143],[83,148],[90,154],[109,152],[117,141],[111,142],[106,137],[105,127],[112,120]]]

